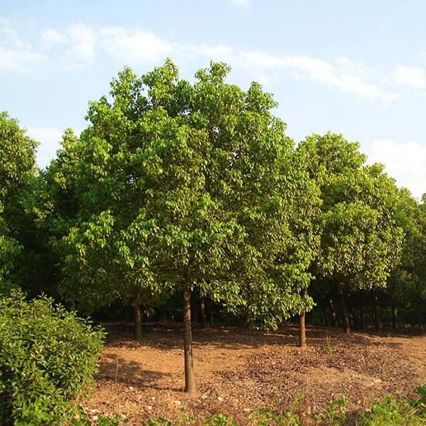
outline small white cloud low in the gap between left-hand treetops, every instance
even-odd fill
[[[40,142],[37,150],[37,163],[40,168],[45,168],[52,158],[56,157],[56,151],[61,148],[63,131],[56,127],[28,127],[27,134],[35,141]]]

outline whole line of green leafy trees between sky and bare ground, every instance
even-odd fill
[[[0,115],[1,293],[131,311],[136,339],[144,312],[182,321],[189,392],[195,317],[298,318],[305,346],[307,316],[349,333],[426,314],[425,197],[342,135],[295,146],[272,95],[228,72],[212,63],[191,84],[170,60],[142,77],[125,68],[45,170]]]

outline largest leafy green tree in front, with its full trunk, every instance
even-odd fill
[[[271,95],[226,84],[228,72],[212,63],[192,85],[170,60],[141,78],[126,68],[60,153],[73,160],[55,165],[77,205],[63,290],[89,306],[182,293],[188,392],[193,290],[269,327],[310,303],[309,239],[287,204],[293,141]]]

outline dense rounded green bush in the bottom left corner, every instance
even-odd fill
[[[60,425],[97,371],[104,333],[40,297],[0,300],[0,423]]]

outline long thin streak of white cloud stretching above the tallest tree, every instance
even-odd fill
[[[240,6],[250,6],[246,0],[229,0]],[[218,60],[228,62],[234,68],[249,72],[251,78],[263,84],[278,82],[283,70],[296,79],[305,79],[356,94],[368,101],[383,103],[397,99],[400,86],[423,87],[425,76],[420,68],[398,66],[392,75],[373,67],[356,63],[349,58],[326,61],[302,55],[269,55],[262,51],[236,51],[228,45],[189,45],[175,43],[141,28],[104,27],[90,28],[73,24],[68,28],[69,43],[67,66],[78,68],[94,58],[100,47],[121,65],[155,64],[170,56],[179,62]],[[65,43],[65,35],[53,29],[42,35],[46,43]],[[397,83],[397,84],[395,84]],[[398,85],[399,84],[399,85]],[[406,94],[406,92],[405,92]]]

